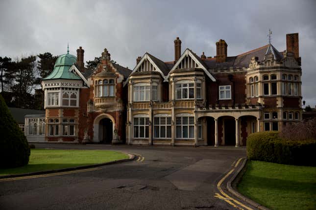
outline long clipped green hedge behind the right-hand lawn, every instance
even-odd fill
[[[289,141],[278,131],[252,133],[247,137],[247,158],[273,163],[316,166],[316,140]]]

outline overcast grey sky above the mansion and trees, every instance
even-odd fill
[[[100,56],[134,68],[137,56],[149,52],[163,61],[174,57],[173,40],[182,51],[215,56],[219,39],[228,56],[267,44],[286,49],[286,34],[299,33],[302,95],[316,105],[316,1],[195,1],[195,0],[0,0],[0,56],[85,50],[85,61]]]

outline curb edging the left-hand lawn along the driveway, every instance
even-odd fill
[[[30,176],[30,175],[39,175],[39,174],[47,174],[47,173],[56,173],[56,172],[64,172],[64,171],[71,171],[71,170],[77,170],[77,169],[84,169],[84,168],[93,168],[98,166],[106,166],[106,165],[113,165],[113,164],[119,164],[124,163],[128,161],[132,161],[135,159],[135,155],[125,153],[129,156],[129,158],[122,159],[122,160],[115,160],[111,162],[106,163],[100,163],[100,164],[93,164],[93,165],[87,165],[87,166],[78,166],[73,168],[62,168],[62,169],[55,169],[55,170],[45,170],[45,171],[37,171],[37,172],[31,172],[31,173],[20,173],[20,174],[14,174],[14,175],[5,175],[0,176],[0,179],[2,178],[14,178],[14,177],[22,177],[22,176]]]

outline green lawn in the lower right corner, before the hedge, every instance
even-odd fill
[[[237,189],[272,210],[316,210],[316,167],[247,161]]]

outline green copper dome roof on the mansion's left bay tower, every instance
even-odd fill
[[[54,70],[44,78],[43,80],[55,80],[55,79],[68,79],[68,80],[81,80],[81,78],[75,75],[73,72],[70,72],[69,69],[73,63],[77,62],[77,58],[74,55],[63,54],[59,56],[55,62]]]

